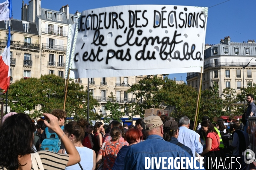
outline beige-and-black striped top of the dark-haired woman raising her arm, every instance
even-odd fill
[[[44,170],[65,170],[68,164],[69,156],[66,154],[53,153],[47,150],[39,151],[38,154],[41,158]],[[0,170],[7,169],[0,165]],[[34,170],[33,165],[31,165],[31,170]]]

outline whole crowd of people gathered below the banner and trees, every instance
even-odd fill
[[[102,122],[92,127],[85,119],[65,124],[67,114],[61,109],[44,113],[36,126],[28,115],[12,112],[4,116],[0,127],[0,170],[142,170],[148,167],[146,158],[152,163],[147,169],[166,169],[161,158],[177,157],[204,157],[203,167],[217,170],[228,150],[238,160],[233,167],[245,169],[247,120],[256,111],[253,95],[247,95],[247,101],[244,126],[232,120],[213,124],[203,116],[196,132],[194,122],[186,116],[175,121],[152,115],[137,119],[134,127],[112,120],[105,129]],[[159,158],[157,167],[153,162]],[[211,159],[217,164],[211,165]],[[185,167],[200,166],[196,161],[192,168]],[[180,168],[174,165],[171,169]]]

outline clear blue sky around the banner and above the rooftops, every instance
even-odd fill
[[[24,0],[28,4],[29,0]],[[102,8],[119,5],[182,5],[211,7],[226,0],[41,0],[41,7],[59,10],[69,5],[69,12],[77,10]],[[21,19],[22,0],[12,0],[13,18]],[[230,36],[233,42],[256,40],[256,0],[229,0],[218,6],[209,8],[206,29],[206,43],[217,44],[225,36]],[[169,78],[186,81],[186,73],[170,74]]]

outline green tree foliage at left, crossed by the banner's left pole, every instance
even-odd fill
[[[33,118],[40,117],[42,112],[51,112],[53,109],[63,109],[65,79],[56,75],[42,75],[41,78],[28,78],[16,81],[8,91],[9,106],[13,112],[33,110],[40,105],[41,109],[35,111]],[[90,119],[98,120],[100,115],[92,110],[99,104],[92,95],[89,98]],[[84,104],[83,104],[84,103]],[[72,79],[68,82],[68,93],[65,111],[68,117],[87,117],[87,91],[83,86],[75,84]]]

